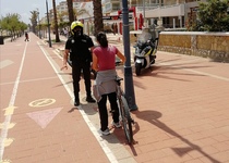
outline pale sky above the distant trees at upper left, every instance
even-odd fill
[[[52,0],[48,1],[49,10],[52,9]],[[65,0],[56,0],[56,5]],[[46,15],[46,0],[0,0],[0,16],[5,16],[9,13],[17,13],[21,15],[22,22],[31,24],[31,11],[39,11],[39,17]]]

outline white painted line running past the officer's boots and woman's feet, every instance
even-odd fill
[[[39,46],[39,45],[38,45]],[[67,85],[64,85],[64,80],[62,78],[62,76],[60,75],[60,72],[57,71],[57,68],[55,67],[53,63],[50,61],[50,59],[47,57],[48,52],[45,51],[45,49],[39,46],[39,48],[43,50],[46,59],[49,61],[50,65],[52,66],[53,71],[56,72],[56,74],[58,75],[59,79],[61,80],[61,83],[63,84],[64,88],[67,89],[67,91],[69,92],[71,98],[74,98],[73,92],[71,91],[71,89],[69,87],[67,87]],[[100,145],[101,149],[104,150],[105,154],[107,155],[107,158],[109,159],[109,161],[111,163],[118,163],[116,156],[113,155],[112,151],[109,149],[109,147],[106,145],[106,140],[104,140],[100,135],[98,134],[97,129],[94,127],[93,123],[89,121],[88,116],[86,115],[86,113],[84,112],[83,108],[80,105],[79,106],[79,111],[82,114],[84,121],[86,122],[86,124],[88,125],[91,131],[93,133],[93,135],[95,136],[95,138],[97,139],[98,143]]]

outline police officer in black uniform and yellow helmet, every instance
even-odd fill
[[[81,72],[83,71],[85,89],[86,89],[86,101],[94,103],[95,99],[91,92],[91,62],[92,62],[92,50],[94,47],[93,40],[89,36],[83,34],[83,24],[79,21],[72,22],[71,33],[72,36],[65,42],[65,53],[63,57],[63,68],[68,68],[67,61],[70,54],[72,61],[72,78],[74,89],[74,105],[80,105],[80,79]],[[91,49],[91,50],[89,50]]]

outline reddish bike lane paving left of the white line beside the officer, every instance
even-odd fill
[[[81,113],[69,112],[71,97],[58,77],[69,73],[51,63],[52,48],[29,37],[1,47],[1,62],[8,61],[1,68],[1,162],[108,162]]]

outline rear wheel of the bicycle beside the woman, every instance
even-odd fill
[[[132,130],[132,118],[130,114],[130,109],[128,102],[123,96],[120,99],[120,110],[122,115],[122,125],[124,128],[124,134],[129,143],[133,142],[133,130]]]

